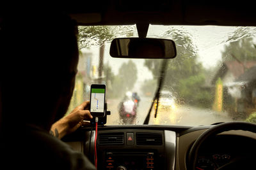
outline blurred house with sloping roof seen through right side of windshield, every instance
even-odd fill
[[[253,72],[254,71],[254,72]],[[256,92],[256,61],[239,62],[237,60],[223,62],[211,80],[214,86],[220,78],[223,84],[224,110],[232,117],[244,118],[252,113],[253,92]],[[256,102],[256,99],[255,99]]]

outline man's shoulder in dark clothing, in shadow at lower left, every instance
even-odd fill
[[[24,134],[19,134],[19,143],[13,146],[12,152],[26,169],[95,169],[83,153],[36,127],[26,127]]]

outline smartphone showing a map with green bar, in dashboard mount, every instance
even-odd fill
[[[105,116],[106,85],[92,84],[90,95],[90,112],[93,117]]]

